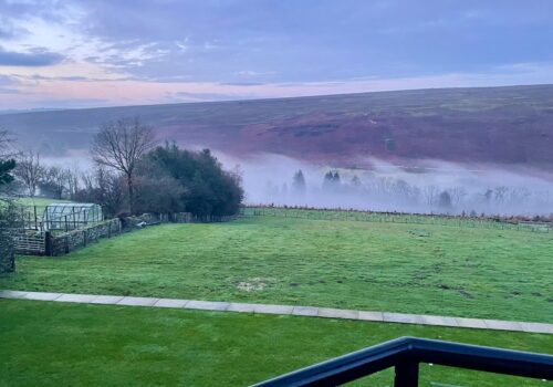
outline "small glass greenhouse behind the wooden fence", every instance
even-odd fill
[[[43,215],[46,230],[75,230],[103,219],[102,207],[94,203],[56,202],[46,206]]]

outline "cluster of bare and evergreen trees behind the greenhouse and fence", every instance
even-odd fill
[[[229,216],[243,199],[241,177],[227,171],[209,149],[160,142],[138,118],[104,123],[91,144],[93,167],[46,166],[28,150],[6,160],[12,186],[25,196],[96,202],[108,216],[191,212]],[[11,163],[11,164],[10,164]],[[0,164],[0,174],[3,164]],[[1,177],[2,175],[0,175]]]

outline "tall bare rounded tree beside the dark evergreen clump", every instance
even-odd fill
[[[92,142],[91,151],[94,161],[125,175],[131,213],[134,202],[133,178],[137,163],[156,144],[153,129],[142,124],[138,118],[122,118],[105,123]]]

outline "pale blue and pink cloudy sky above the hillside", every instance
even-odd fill
[[[0,111],[544,83],[551,0],[0,0]]]

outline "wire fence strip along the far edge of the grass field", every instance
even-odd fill
[[[517,230],[531,232],[552,232],[553,226],[546,221],[507,220],[486,217],[460,217],[426,213],[373,212],[342,209],[243,207],[242,217],[284,217],[312,220],[366,221],[403,224],[434,224],[473,229]]]

